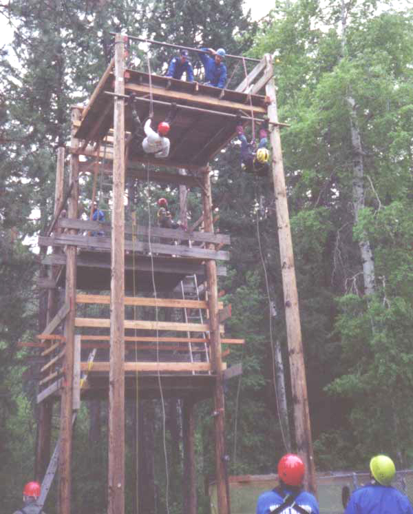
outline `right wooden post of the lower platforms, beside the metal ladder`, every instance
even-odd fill
[[[202,202],[204,206],[204,229],[213,232],[213,212],[211,181],[209,173],[204,174],[204,187],[202,188]],[[207,247],[213,247],[211,243]],[[220,322],[218,315],[218,283],[217,265],[215,260],[206,261],[207,268],[207,290],[209,302],[209,333],[211,339],[211,364],[216,375],[214,389],[213,413],[215,422],[215,480],[217,482],[218,512],[229,514],[229,494],[227,487],[228,477],[226,476],[226,455],[224,440],[224,378],[222,376],[222,353],[220,341]]]

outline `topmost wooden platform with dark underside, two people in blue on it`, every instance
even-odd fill
[[[170,104],[179,107],[173,121],[169,139],[171,152],[167,159],[158,163],[173,167],[203,167],[235,137],[235,116],[242,110],[245,116],[262,119],[266,114],[265,97],[257,94],[221,90],[199,83],[178,81],[166,76],[151,75],[135,70],[125,73],[125,92],[136,94],[138,115],[144,121],[149,114],[149,94],[153,96],[153,127],[165,119]],[[98,84],[89,104],[83,109],[76,137],[83,140],[83,148],[89,141],[100,141],[114,120],[114,74],[107,70]],[[157,103],[158,102],[158,103]],[[204,110],[204,111],[200,111]],[[131,130],[130,108],[125,110],[125,129]],[[81,145],[82,146],[82,145]],[[140,148],[135,149],[140,152]],[[146,160],[145,154],[131,156],[132,161]]]

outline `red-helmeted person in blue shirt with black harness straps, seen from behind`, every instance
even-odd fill
[[[298,455],[284,455],[278,462],[279,485],[260,495],[257,514],[319,514],[315,496],[303,491],[304,473]]]

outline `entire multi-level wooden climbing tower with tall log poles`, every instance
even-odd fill
[[[158,379],[162,378],[163,393],[184,402],[189,514],[196,512],[193,406],[204,398],[213,398],[218,510],[220,514],[229,514],[223,382],[225,374],[230,376],[234,370],[226,369],[221,345],[242,343],[242,340],[229,340],[224,336],[223,320],[228,316],[228,309],[224,309],[218,298],[217,277],[225,273],[225,268],[216,261],[229,260],[230,238],[214,231],[208,163],[235,136],[235,117],[240,115],[240,110],[245,114],[245,123],[251,116],[258,120],[265,114],[271,122],[288,342],[295,353],[293,358],[302,360],[272,59],[267,54],[257,61],[235,90],[220,90],[126,69],[125,37],[121,34],[116,34],[114,48],[114,58],[87,105],[72,107],[70,147],[58,152],[54,219],[47,234],[39,237],[39,245],[51,247],[52,252],[43,254],[48,274],[41,282],[47,288],[48,303],[47,326],[39,335],[46,362],[37,396],[40,404],[37,469],[41,478],[47,478],[54,475],[59,462],[59,514],[70,514],[72,423],[84,398],[107,398],[107,512],[124,514],[125,398],[134,398],[137,387],[140,398],[159,398]],[[169,133],[168,158],[160,161],[139,153],[125,158],[131,131],[125,102],[131,93],[136,95],[140,119],[147,117],[150,103],[153,105],[153,125],[165,118],[171,103],[178,105],[178,116]],[[65,152],[70,165],[64,193]],[[156,171],[151,166],[153,163],[157,165]],[[112,181],[110,225],[79,218],[81,176],[96,173],[97,168]],[[202,231],[195,227],[187,231],[161,229],[139,225],[135,220],[125,221],[125,180],[128,178],[170,187],[198,188],[202,194]],[[62,216],[66,204],[67,216]],[[176,299],[163,294],[172,291],[185,276],[193,275],[204,283],[207,295],[202,299]],[[58,287],[64,289],[61,305],[57,300]],[[110,315],[107,318],[82,316],[82,305],[107,305]],[[204,317],[200,318],[202,322],[193,322],[187,317],[184,322],[165,321],[160,320],[162,316],[158,314],[154,320],[131,319],[125,314],[130,306],[151,307],[157,313],[162,309],[202,309]],[[145,336],[139,335],[142,330]],[[171,331],[179,335],[165,335]],[[138,348],[137,353],[129,351],[130,345]],[[291,366],[297,379],[293,384],[293,396],[297,400],[295,411],[297,405],[299,411],[295,416],[297,446],[307,460],[311,477],[313,464],[306,382],[305,375],[304,379],[302,376],[304,366],[301,368],[297,362]],[[50,459],[51,405],[59,399],[60,438]],[[43,490],[43,496],[45,494],[47,491]]]

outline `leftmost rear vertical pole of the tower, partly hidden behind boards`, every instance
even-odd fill
[[[54,188],[54,214],[63,198],[63,183],[65,170],[65,149],[57,149],[56,185]],[[50,267],[50,278],[53,278],[53,267]],[[56,288],[47,291],[47,323],[49,323],[57,311]],[[50,461],[50,442],[52,438],[52,410],[53,400],[47,398],[39,405],[38,437],[36,444],[36,462],[34,476],[38,482],[43,480],[47,464]]]

